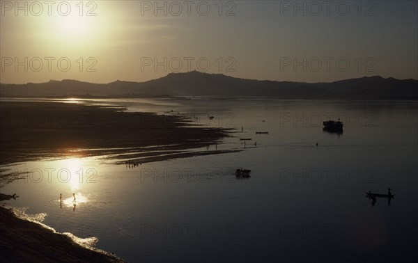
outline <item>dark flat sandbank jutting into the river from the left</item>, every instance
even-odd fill
[[[175,115],[121,110],[56,102],[1,102],[0,164],[117,155],[127,149],[141,148],[142,152],[145,147],[176,150],[186,157],[187,149],[219,143],[229,136],[225,129],[185,127],[187,120]]]

